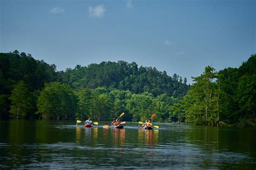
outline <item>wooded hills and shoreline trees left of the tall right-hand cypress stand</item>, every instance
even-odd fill
[[[56,72],[55,65],[18,51],[0,53],[1,118],[107,120],[125,112],[126,121],[158,113],[171,115],[170,105],[187,93],[186,78],[172,77],[135,62],[101,62]]]

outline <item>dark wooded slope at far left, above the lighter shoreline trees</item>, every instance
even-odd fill
[[[0,53],[0,95],[10,95],[19,80],[26,82],[30,91],[42,90],[44,83],[58,80],[56,66],[35,60],[31,54],[19,54],[17,50]]]

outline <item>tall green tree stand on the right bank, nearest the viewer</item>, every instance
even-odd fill
[[[187,123],[219,126],[256,124],[256,55],[239,68],[216,72],[211,66],[193,77],[193,85],[172,111]]]

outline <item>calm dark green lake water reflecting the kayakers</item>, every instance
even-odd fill
[[[256,129],[155,123],[142,130],[75,121],[0,121],[2,168],[255,169]]]

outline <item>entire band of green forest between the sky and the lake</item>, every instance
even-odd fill
[[[0,118],[255,123],[256,55],[239,68],[207,66],[194,84],[135,62],[101,62],[56,72],[30,54],[0,53]]]

